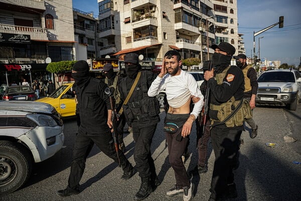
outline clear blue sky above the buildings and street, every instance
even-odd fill
[[[236,0],[234,0],[236,1]],[[98,18],[97,0],[73,0],[73,8],[93,11]],[[260,58],[281,61],[281,64],[299,65],[301,58],[301,1],[300,0],[237,0],[238,32],[243,35],[246,55],[254,56],[253,32],[258,32],[279,21],[284,16],[283,28],[275,27],[255,37],[255,52]],[[261,38],[263,37],[263,38]]]

